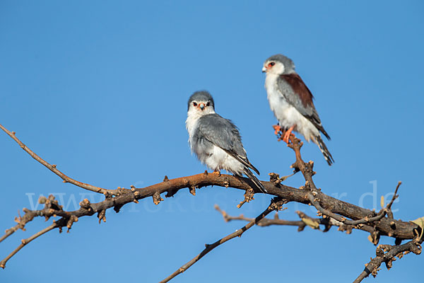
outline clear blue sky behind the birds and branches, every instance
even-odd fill
[[[283,53],[331,136],[331,168],[314,144],[302,151],[315,161],[316,184],[379,209],[379,197],[402,180],[394,216],[416,219],[424,215],[423,11],[421,1],[2,1],[0,123],[76,180],[143,187],[205,170],[190,154],[184,121],[189,96],[206,89],[216,111],[240,127],[261,179],[287,175],[294,156],[273,135],[261,74],[267,57]],[[61,183],[1,133],[0,156],[1,231],[40,195],[54,193],[70,210],[85,197],[100,200]],[[213,204],[245,216],[269,204],[257,195],[237,209],[242,195],[182,190],[158,206],[148,199],[107,212],[106,224],[82,218],[71,233],[51,231],[26,246],[0,270],[1,281],[158,282],[243,225],[225,223]],[[280,217],[297,219],[295,210],[315,215],[288,204]],[[36,219],[0,243],[0,257],[47,225]],[[362,231],[254,227],[173,282],[348,282],[373,256]],[[420,279],[423,264],[407,255],[366,280]]]

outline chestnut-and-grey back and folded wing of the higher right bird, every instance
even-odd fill
[[[314,96],[312,96],[311,91],[307,88],[298,74],[284,74],[279,76],[277,79],[277,87],[290,105],[293,105],[293,107],[307,118],[307,120],[310,120],[327,139],[330,139],[329,134],[327,134],[324,127],[322,127],[318,112],[312,101]]]

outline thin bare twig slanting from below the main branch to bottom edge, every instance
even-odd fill
[[[226,241],[229,241],[232,238],[242,236],[242,233],[245,233],[245,231],[247,231],[249,228],[251,228],[252,226],[254,226],[255,224],[257,224],[259,221],[261,221],[261,219],[264,219],[264,217],[266,215],[268,215],[270,212],[272,212],[273,210],[281,209],[281,206],[284,203],[285,202],[283,200],[281,200],[281,199],[273,199],[273,200],[271,200],[271,204],[269,204],[269,207],[267,207],[264,210],[264,212],[262,212],[261,214],[259,214],[255,219],[253,219],[252,221],[250,221],[248,224],[246,224],[245,226],[243,226],[241,229],[235,231],[234,233],[230,233],[230,235],[225,236],[224,238],[221,238],[220,240],[216,241],[215,243],[212,243],[211,245],[206,244],[206,248],[204,250],[202,250],[201,253],[199,253],[199,255],[196,255],[192,260],[190,260],[189,262],[187,262],[185,265],[182,265],[182,267],[179,267],[178,270],[176,270],[174,273],[172,273],[172,275],[170,275],[170,276],[166,277],[165,279],[163,279],[162,281],[160,281],[160,283],[169,282],[170,279],[172,279],[172,278],[176,277],[177,275],[181,274],[182,272],[186,271],[189,267],[191,267],[192,265],[194,265],[194,263],[196,263],[198,260],[200,260],[201,258],[203,258],[204,255],[206,255],[207,253],[209,253],[214,248],[220,246],[220,244],[225,243]]]

